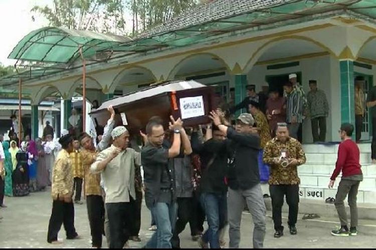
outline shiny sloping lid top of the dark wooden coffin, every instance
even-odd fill
[[[151,96],[156,96],[162,93],[173,92],[173,91],[180,91],[186,89],[194,89],[194,88],[201,88],[201,87],[208,87],[205,84],[199,83],[194,80],[180,80],[180,81],[169,81],[166,83],[162,83],[155,86],[150,86],[148,88],[144,88],[142,90],[138,90],[135,92],[131,92],[116,98],[109,99],[102,103],[102,105],[91,113],[97,113],[101,110],[107,109],[108,106],[112,105],[113,107],[117,107],[124,103],[129,103],[132,101],[144,99]]]

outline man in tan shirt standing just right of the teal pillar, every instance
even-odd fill
[[[364,117],[364,80],[362,77],[355,78],[355,141],[359,142],[361,137],[361,127],[363,125]]]

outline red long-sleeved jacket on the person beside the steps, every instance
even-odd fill
[[[342,141],[338,147],[338,158],[330,179],[335,180],[341,170],[342,177],[362,174],[359,157],[359,148],[353,140],[347,139]]]

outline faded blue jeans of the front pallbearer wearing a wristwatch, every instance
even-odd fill
[[[171,248],[172,231],[177,216],[177,203],[157,202],[151,207],[157,230],[153,233],[145,248]]]

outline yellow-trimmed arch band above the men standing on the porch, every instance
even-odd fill
[[[253,65],[255,65],[255,63],[258,61],[261,55],[263,55],[269,48],[271,48],[274,45],[274,43],[278,41],[286,40],[286,39],[299,39],[299,40],[312,42],[316,44],[317,46],[323,48],[325,51],[328,51],[333,56],[337,57],[337,55],[329,47],[327,47],[323,43],[316,41],[310,37],[303,36],[303,35],[285,35],[285,36],[280,36],[280,37],[268,40],[267,42],[262,44],[259,48],[257,48],[256,51],[252,54],[251,58],[247,61],[242,71],[246,73],[249,70],[251,70],[251,68],[253,67]]]

